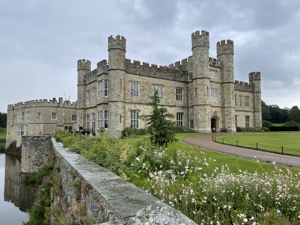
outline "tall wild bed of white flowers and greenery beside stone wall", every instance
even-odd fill
[[[263,163],[251,161],[258,168],[253,173],[245,163],[244,170],[232,171],[203,151],[179,149],[177,143],[154,146],[149,139],[122,145],[105,136],[55,137],[198,224],[299,224],[298,170],[271,164],[272,170],[265,172]]]

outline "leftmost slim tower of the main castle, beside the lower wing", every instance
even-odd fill
[[[85,128],[86,85],[85,75],[91,72],[91,62],[85,59],[77,61],[77,124]]]

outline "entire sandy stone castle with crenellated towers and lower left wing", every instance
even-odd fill
[[[59,98],[59,103],[53,99],[8,105],[8,142],[17,137],[21,140],[20,136],[27,133],[50,134],[56,127],[90,130],[94,134],[104,128],[116,137],[126,127],[145,128],[139,116],[151,112],[146,102],[157,89],[161,106],[175,116],[177,125],[194,132],[208,133],[213,128],[216,132],[234,132],[236,127],[261,127],[260,73],[249,73],[249,82],[236,81],[233,41],[217,42],[217,58],[211,58],[208,32],[196,31],[191,40],[191,56],[158,67],[135,60],[132,63],[126,58],[126,39],[110,36],[108,63],[102,60],[91,71],[89,60],[77,61],[76,104],[62,103]],[[44,120],[37,119],[31,125],[31,120],[24,119],[28,112],[36,113],[37,118],[43,112]]]

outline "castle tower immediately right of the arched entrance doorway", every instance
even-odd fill
[[[234,116],[235,116],[235,104],[234,104],[234,72],[233,72],[233,41],[222,40],[217,42],[217,59],[221,63],[221,81],[222,81],[222,115],[226,118],[222,121],[223,127],[229,127],[230,132],[236,131]]]

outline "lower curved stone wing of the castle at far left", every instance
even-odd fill
[[[77,130],[77,103],[52,100],[33,100],[7,106],[5,149],[16,141],[21,146],[22,136],[28,134],[52,134],[56,128]]]

